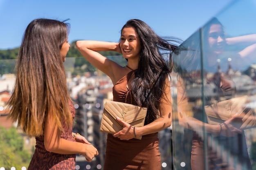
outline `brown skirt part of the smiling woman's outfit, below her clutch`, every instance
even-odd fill
[[[104,170],[161,170],[157,135],[120,140],[108,134]]]

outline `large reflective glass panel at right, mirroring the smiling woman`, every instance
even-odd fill
[[[255,1],[234,1],[173,54],[176,170],[255,169]]]

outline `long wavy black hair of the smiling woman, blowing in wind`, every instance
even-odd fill
[[[141,42],[142,49],[139,65],[131,85],[132,95],[137,104],[148,107],[145,124],[149,124],[157,119],[160,98],[164,95],[164,84],[173,68],[171,52],[176,49],[177,45],[170,42],[180,43],[180,40],[160,38],[148,24],[138,19],[128,20],[121,32],[127,27],[135,29]],[[160,77],[155,83],[158,76]],[[148,93],[150,93],[149,96]],[[147,96],[148,98],[146,99]]]

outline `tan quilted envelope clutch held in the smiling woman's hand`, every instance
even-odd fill
[[[123,125],[116,120],[117,117],[132,126],[144,126],[146,114],[147,108],[107,100],[102,114],[100,132],[114,134],[123,129]],[[141,136],[137,136],[136,139],[141,139]]]

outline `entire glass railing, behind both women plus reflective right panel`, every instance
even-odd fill
[[[174,51],[172,127],[159,132],[162,170],[256,169],[255,18],[255,0],[235,0]],[[109,58],[126,64],[121,56]],[[0,60],[0,121],[8,128],[15,62]],[[99,150],[90,163],[77,155],[76,169],[103,169],[106,134],[99,125],[112,82],[83,57],[67,57],[64,64],[76,108],[73,131]],[[18,133],[33,154],[33,138]]]

